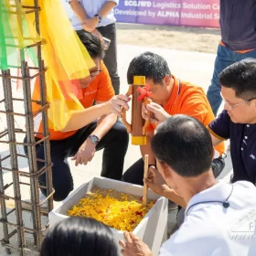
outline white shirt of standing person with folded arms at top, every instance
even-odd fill
[[[67,2],[70,2],[70,0],[66,0]],[[82,5],[87,13],[87,16],[90,18],[97,15],[98,12],[101,10],[101,7],[106,3],[106,2],[114,2],[116,5],[119,4],[119,0],[80,0],[80,5]],[[71,21],[72,26],[74,27],[75,30],[80,30],[82,29],[82,26],[80,25],[80,19],[78,16],[74,14],[73,11],[69,11],[69,19]],[[116,19],[113,14],[113,9],[112,11],[105,17],[102,17],[101,23],[98,24],[97,27],[105,27],[107,25],[110,25],[112,23],[115,23]]]

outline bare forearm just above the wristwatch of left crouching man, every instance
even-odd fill
[[[97,135],[98,138],[101,140],[104,137],[104,135],[112,129],[112,126],[116,122],[116,119],[117,116],[114,113],[109,114],[107,116],[101,116],[97,123],[97,127],[92,134]]]

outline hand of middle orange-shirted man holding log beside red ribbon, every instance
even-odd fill
[[[165,112],[164,108],[158,105],[155,102],[151,102],[149,104],[143,104],[143,118],[144,120],[148,120],[147,112],[152,112],[153,116],[151,117],[151,122],[156,123],[156,125],[163,123],[170,115]]]

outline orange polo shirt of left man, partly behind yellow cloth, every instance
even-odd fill
[[[108,72],[108,69],[104,65],[103,62],[101,62],[101,73],[91,81],[88,88],[80,89],[80,102],[84,109],[90,108],[94,101],[109,101],[114,96],[114,91],[112,88],[112,81]],[[73,81],[73,83],[76,83],[76,80]],[[39,89],[35,87],[33,91],[33,100],[39,99]],[[38,105],[32,104],[33,112],[37,112]],[[59,113],[61,114],[61,113]],[[34,126],[35,126],[35,133],[42,133],[42,116],[41,114],[37,114],[36,117],[34,117]],[[77,133],[78,130],[70,131],[66,133],[62,133],[60,131],[54,131],[53,129],[49,129],[50,140],[63,140],[68,138],[69,136],[73,135],[74,133]],[[38,138],[41,138],[42,136],[40,134],[37,134]]]

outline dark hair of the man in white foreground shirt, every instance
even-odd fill
[[[169,165],[179,176],[198,176],[208,171],[213,145],[203,123],[177,114],[159,125],[156,132],[151,146],[158,161]]]

